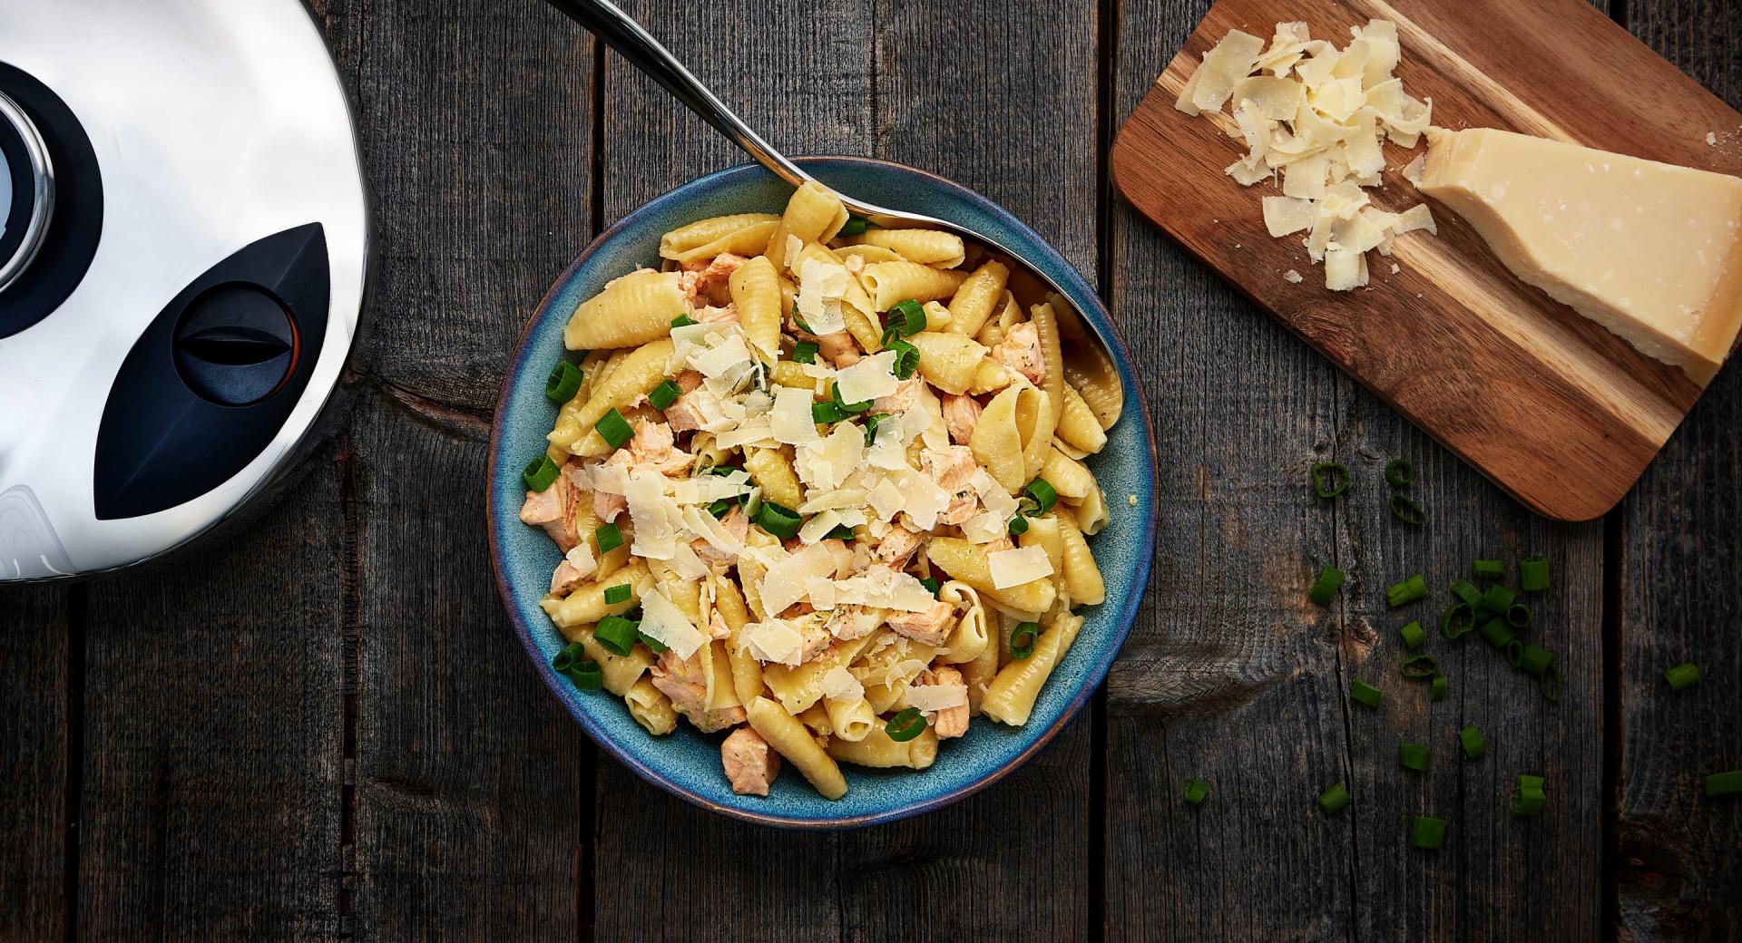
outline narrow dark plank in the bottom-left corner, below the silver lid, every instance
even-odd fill
[[[0,940],[66,934],[70,592],[0,588]]]

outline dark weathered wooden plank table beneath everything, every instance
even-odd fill
[[[1742,104],[1742,5],[1610,3]],[[251,534],[0,595],[0,938],[1742,938],[1742,802],[1698,788],[1742,767],[1742,372],[1615,513],[1556,525],[1111,197],[1111,132],[1204,0],[627,5],[777,144],[955,177],[1099,282],[1164,466],[1106,691],[998,786],[840,835],[726,821],[599,757],[496,602],[490,411],[568,259],[740,157],[533,0],[324,0],[381,251],[348,430]],[[1371,480],[1397,454],[1421,532],[1376,487],[1303,487],[1310,461]],[[1536,632],[1564,701],[1437,637],[1453,696],[1406,687],[1383,585],[1529,552],[1556,562]],[[1305,605],[1333,560],[1338,607]],[[1686,659],[1707,680],[1671,696]],[[1388,708],[1352,708],[1352,677]],[[1463,724],[1486,759],[1458,760]],[[1547,776],[1538,819],[1510,813],[1517,772]],[[1355,804],[1320,816],[1338,779]],[[1408,847],[1418,813],[1449,819],[1444,851]]]

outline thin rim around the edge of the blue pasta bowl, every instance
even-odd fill
[[[1012,771],[1031,760],[1035,753],[1038,753],[1043,746],[1052,743],[1052,739],[1064,727],[1068,727],[1071,720],[1077,719],[1084,705],[1087,705],[1089,699],[1094,696],[1094,692],[1099,691],[1103,684],[1106,684],[1106,677],[1113,666],[1113,661],[1118,658],[1120,651],[1124,651],[1125,640],[1131,637],[1131,626],[1136,621],[1138,607],[1141,605],[1143,597],[1150,588],[1150,567],[1153,565],[1153,557],[1155,557],[1155,517],[1158,513],[1158,505],[1155,499],[1158,463],[1155,451],[1155,435],[1151,431],[1153,426],[1150,425],[1150,404],[1143,395],[1143,385],[1136,381],[1138,378],[1132,367],[1131,351],[1125,348],[1125,341],[1118,336],[1118,331],[1113,324],[1113,317],[1106,308],[1106,301],[1103,301],[1101,294],[1094,289],[1094,285],[1090,285],[1089,280],[1084,278],[1080,271],[1077,271],[1077,266],[1073,266],[1070,259],[1066,259],[1064,254],[1059,252],[1050,242],[1042,238],[1040,233],[1033,231],[1014,212],[991,202],[981,193],[956,181],[951,181],[944,176],[932,174],[928,171],[920,171],[918,167],[909,167],[906,164],[897,164],[894,160],[883,160],[874,157],[852,157],[852,155],[812,155],[812,157],[796,157],[793,160],[801,167],[861,165],[861,167],[874,167],[883,172],[894,172],[897,176],[918,177],[925,183],[953,191],[953,195],[956,195],[958,198],[977,205],[989,216],[998,217],[1003,224],[1010,226],[1019,237],[1024,237],[1031,240],[1035,245],[1040,245],[1043,254],[1050,254],[1052,256],[1050,261],[1057,263],[1059,268],[1064,271],[1064,282],[1068,282],[1066,287],[1071,289],[1075,294],[1087,298],[1092,303],[1089,310],[1084,311],[1084,317],[1089,318],[1092,325],[1099,329],[1099,334],[1113,348],[1113,367],[1118,371],[1120,381],[1131,391],[1132,398],[1138,404],[1138,414],[1129,419],[1141,419],[1141,428],[1138,430],[1138,435],[1141,435],[1144,444],[1148,445],[1146,449],[1148,465],[1143,468],[1143,473],[1150,491],[1150,513],[1139,522],[1139,532],[1138,532],[1139,543],[1138,543],[1138,557],[1134,567],[1134,571],[1141,578],[1141,585],[1136,585],[1134,586],[1136,592],[1125,593],[1125,599],[1120,600],[1117,609],[1117,619],[1113,623],[1113,633],[1110,639],[1113,644],[1106,647],[1104,654],[1097,656],[1089,665],[1089,670],[1084,675],[1085,684],[1082,684],[1078,691],[1071,696],[1070,703],[1064,705],[1064,710],[1059,713],[1057,720],[1047,726],[1047,729],[1038,731],[1035,734],[1035,739],[1030,741],[1016,757],[1012,757],[1010,762],[996,769],[989,769],[982,776],[969,783],[963,783],[962,786],[956,786],[953,790],[942,792],[939,795],[918,802],[901,804],[885,811],[866,813],[857,816],[801,818],[801,816],[756,813],[751,809],[725,806],[714,802],[712,799],[704,797],[702,793],[676,781],[665,772],[657,771],[648,764],[641,762],[639,759],[634,757],[634,753],[629,752],[627,746],[606,736],[604,731],[601,731],[592,722],[591,717],[571,706],[568,699],[563,698],[563,692],[557,687],[557,684],[561,684],[563,679],[557,677],[556,670],[550,666],[549,661],[545,661],[544,654],[538,651],[538,644],[533,639],[531,626],[526,625],[526,619],[521,616],[519,609],[512,602],[514,586],[509,583],[507,571],[502,564],[503,536],[496,527],[495,482],[496,482],[496,463],[502,459],[502,449],[503,449],[502,426],[503,426],[503,416],[507,414],[509,409],[509,391],[514,386],[512,381],[523,374],[523,371],[526,369],[526,360],[533,353],[530,350],[528,338],[531,336],[533,327],[538,325],[538,322],[549,315],[550,303],[559,294],[559,289],[575,277],[580,266],[584,266],[594,256],[594,252],[598,252],[601,247],[604,247],[618,235],[622,235],[627,228],[636,224],[643,216],[652,212],[653,207],[664,205],[665,202],[690,191],[707,190],[709,186],[728,177],[742,174],[758,174],[758,172],[766,174],[768,171],[763,169],[760,164],[735,164],[732,167],[712,171],[709,174],[702,174],[695,179],[685,181],[667,190],[665,193],[653,197],[652,200],[641,204],[634,211],[624,214],[617,223],[613,223],[598,237],[594,237],[592,242],[589,242],[587,247],[582,249],[573,261],[570,261],[568,268],[564,268],[563,273],[550,282],[550,285],[545,289],[545,294],[538,299],[538,304],[533,306],[531,315],[526,317],[526,324],[521,327],[521,334],[514,343],[514,357],[512,360],[509,360],[509,365],[502,374],[502,390],[496,393],[496,409],[491,412],[491,421],[490,421],[490,456],[488,456],[490,461],[484,470],[484,522],[490,539],[490,565],[496,579],[496,595],[502,602],[502,607],[507,611],[509,621],[514,625],[514,633],[521,642],[521,649],[524,649],[528,659],[533,665],[533,670],[544,680],[550,696],[554,696],[557,703],[563,706],[563,710],[568,712],[568,715],[580,724],[582,731],[587,732],[587,736],[594,741],[594,745],[598,745],[601,750],[610,753],[617,762],[624,764],[648,783],[693,806],[740,821],[749,821],[754,825],[766,825],[775,828],[829,832],[829,830],[864,828],[869,825],[899,821],[904,818],[913,818],[960,802],[984,790],[986,786],[991,786],[993,783],[1003,779]]]

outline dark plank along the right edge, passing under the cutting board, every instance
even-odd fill
[[[1742,7],[1631,0],[1629,28],[1730,104],[1742,104]],[[1728,158],[1742,125],[1705,127]],[[1615,804],[1622,940],[1725,940],[1742,933],[1742,804],[1707,799],[1700,778],[1742,769],[1742,621],[1735,536],[1742,532],[1742,374],[1723,371],[1646,470],[1617,518],[1611,586],[1618,659]],[[1664,670],[1693,661],[1704,680],[1672,694]]]

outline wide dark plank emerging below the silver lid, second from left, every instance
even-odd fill
[[[80,936],[338,936],[336,465],[246,536],[85,590]]]

